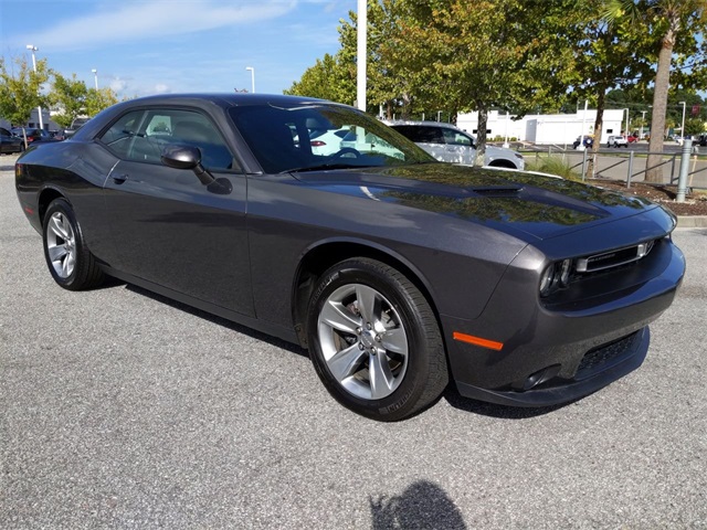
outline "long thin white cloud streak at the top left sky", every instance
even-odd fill
[[[61,21],[50,30],[23,39],[40,46],[51,44],[55,51],[82,50],[252,23],[282,17],[296,4],[296,0],[262,0],[244,6],[214,0],[122,2],[115,10],[104,9]]]

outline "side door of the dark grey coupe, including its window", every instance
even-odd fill
[[[161,287],[253,316],[246,178],[213,121],[182,108],[119,117],[101,137],[119,161],[106,179],[116,268]],[[161,163],[168,145],[190,145],[226,186]]]

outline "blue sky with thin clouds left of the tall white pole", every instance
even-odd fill
[[[282,93],[325,53],[356,0],[0,0],[0,53],[25,54],[120,98]]]

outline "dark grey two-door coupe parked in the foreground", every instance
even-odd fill
[[[356,135],[317,155],[297,140],[312,130]],[[508,405],[594,392],[643,362],[685,271],[654,203],[437,162],[303,97],[120,103],[15,176],[60,286],[109,275],[298,343],[377,420],[430,405],[449,377]]]

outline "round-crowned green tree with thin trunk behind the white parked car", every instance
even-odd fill
[[[572,75],[573,1],[404,2],[401,31],[387,44],[414,93],[456,120],[478,112],[476,165],[484,163],[488,112],[523,115],[558,105]]]

